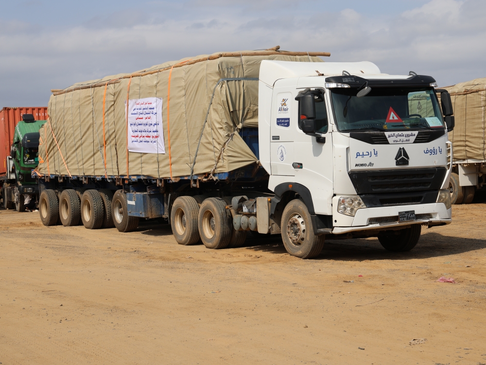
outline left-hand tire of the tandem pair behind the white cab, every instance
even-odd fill
[[[180,245],[192,245],[201,238],[197,228],[199,205],[192,197],[178,197],[171,210],[171,227]]]

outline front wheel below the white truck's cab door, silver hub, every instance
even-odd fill
[[[325,237],[314,235],[311,215],[300,199],[290,201],[282,213],[282,241],[287,252],[300,258],[318,256]]]

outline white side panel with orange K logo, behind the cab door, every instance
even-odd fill
[[[297,102],[289,88],[274,88],[270,127],[270,166],[272,175],[294,176],[294,137]]]

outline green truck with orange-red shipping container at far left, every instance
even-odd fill
[[[38,203],[39,187],[32,177],[38,164],[39,128],[47,108],[0,110],[0,198],[5,209],[18,212]]]

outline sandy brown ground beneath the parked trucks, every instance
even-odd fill
[[[454,206],[409,253],[329,240],[301,260],[278,237],[211,251],[0,210],[0,363],[483,364],[485,212]]]

